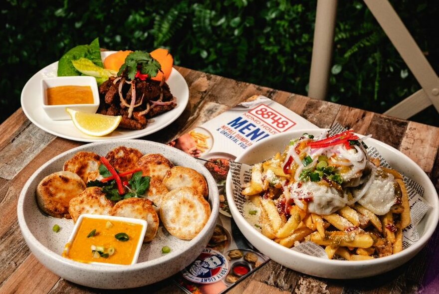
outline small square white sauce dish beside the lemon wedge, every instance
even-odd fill
[[[62,104],[62,105],[47,105],[47,89],[60,86],[90,86],[93,94],[93,103],[89,104]],[[42,108],[47,116],[55,121],[71,120],[70,115],[65,111],[66,108],[73,110],[96,113],[99,108],[99,92],[96,79],[89,76],[74,76],[74,77],[55,77],[45,78],[41,80],[41,98]]]

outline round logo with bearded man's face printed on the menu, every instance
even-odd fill
[[[206,248],[190,266],[183,270],[182,274],[191,282],[211,284],[223,279],[229,269],[230,264],[222,253]]]

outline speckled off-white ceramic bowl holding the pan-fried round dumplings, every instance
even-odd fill
[[[92,151],[105,155],[118,146],[137,148],[144,154],[161,153],[175,165],[191,167],[203,174],[208,182],[209,203],[212,208],[208,223],[197,237],[190,241],[177,239],[160,226],[156,238],[150,243],[143,244],[138,263],[130,266],[91,265],[61,257],[64,245],[73,230],[73,221],[44,215],[36,203],[36,186],[46,175],[62,170],[64,162],[78,151]],[[214,232],[219,214],[219,194],[217,184],[209,171],[197,159],[185,152],[149,141],[114,140],[73,148],[38,168],[21,191],[17,214],[21,232],[30,250],[55,274],[68,281],[93,288],[134,288],[166,279],[183,270],[197,258]],[[52,231],[55,224],[61,227],[58,233]],[[171,253],[162,255],[163,246],[169,246]]]

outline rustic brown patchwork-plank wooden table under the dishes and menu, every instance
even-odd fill
[[[144,138],[146,140],[167,143],[251,95],[261,94],[319,127],[328,128],[339,122],[357,133],[372,134],[375,139],[415,160],[439,188],[438,128],[187,68],[176,68],[189,85],[189,104],[177,121]],[[21,109],[0,125],[0,293],[104,292],[70,283],[47,270],[30,253],[17,223],[18,195],[29,176],[50,158],[81,144],[38,129]],[[439,230],[436,230],[428,246],[413,260],[390,273],[361,280],[314,278],[270,261],[238,283],[230,293],[433,293],[439,288],[438,246]],[[170,279],[131,291],[183,293]]]

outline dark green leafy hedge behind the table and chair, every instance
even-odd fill
[[[438,71],[435,0],[392,0]],[[8,0],[0,8],[0,122],[25,82],[73,46],[169,48],[177,65],[306,95],[316,0]],[[328,100],[382,113],[420,86],[363,1],[339,1]],[[433,107],[413,120],[439,125]]]

